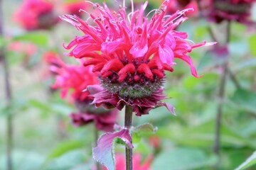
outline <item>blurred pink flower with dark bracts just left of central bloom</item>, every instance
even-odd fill
[[[99,130],[112,131],[117,120],[117,110],[105,110],[90,105],[92,96],[86,91],[88,85],[98,84],[97,74],[92,72],[92,67],[83,67],[75,64],[65,64],[60,58],[48,54],[46,60],[51,64],[50,71],[56,74],[53,89],[61,90],[61,97],[70,92],[78,113],[71,113],[70,118],[75,126],[87,125],[94,122]]]

